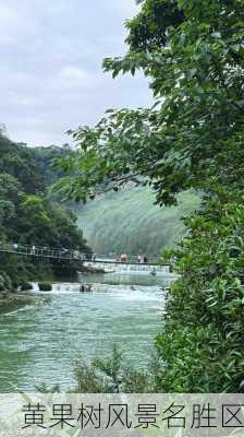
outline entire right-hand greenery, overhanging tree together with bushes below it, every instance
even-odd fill
[[[181,280],[169,293],[157,347],[163,391],[243,387],[244,197],[243,0],[145,0],[129,21],[129,51],[106,59],[113,76],[143,70],[152,108],[109,109],[73,132],[74,177],[66,194],[86,201],[133,180],[157,202],[204,193],[176,256]],[[160,11],[156,14],[155,11]]]

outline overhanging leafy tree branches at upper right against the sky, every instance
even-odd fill
[[[127,54],[103,68],[113,76],[143,70],[155,105],[109,109],[72,132],[77,153],[61,162],[75,173],[62,182],[70,197],[134,180],[170,204],[181,190],[243,177],[243,0],[143,2],[126,23]]]

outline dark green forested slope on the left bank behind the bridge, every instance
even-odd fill
[[[75,214],[60,205],[50,190],[61,175],[53,169],[53,160],[70,153],[68,145],[27,147],[0,133],[1,243],[89,250]],[[1,290],[14,290],[30,279],[53,274],[61,274],[54,262],[1,253]]]

